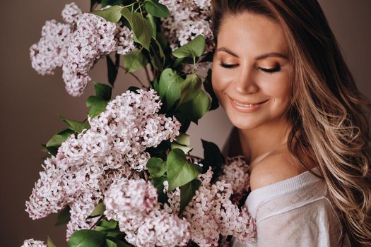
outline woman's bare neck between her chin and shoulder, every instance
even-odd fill
[[[285,147],[291,125],[285,119],[272,121],[257,128],[238,129],[243,155],[249,164],[257,162],[279,147]]]

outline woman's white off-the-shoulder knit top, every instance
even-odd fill
[[[317,167],[312,171],[319,174]],[[337,243],[341,223],[326,183],[310,171],[257,188],[247,196],[245,207],[257,220],[257,243],[232,239],[234,247],[351,246],[347,237]]]

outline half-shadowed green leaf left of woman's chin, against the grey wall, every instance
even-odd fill
[[[211,100],[206,92],[199,90],[199,93],[192,100],[179,106],[178,112],[182,114],[182,117],[198,123],[198,120],[210,109],[210,104]]]

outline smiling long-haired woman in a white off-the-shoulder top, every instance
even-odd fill
[[[371,246],[370,102],[317,1],[214,0],[213,32],[257,245]]]

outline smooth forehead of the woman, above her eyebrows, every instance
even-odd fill
[[[248,12],[223,17],[218,31],[218,47],[249,55],[288,52],[281,25],[266,16]]]

